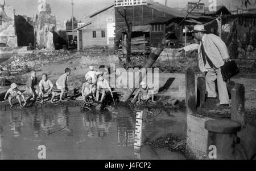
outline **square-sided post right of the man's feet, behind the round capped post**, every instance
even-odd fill
[[[245,125],[245,87],[236,84],[232,89],[231,119]]]

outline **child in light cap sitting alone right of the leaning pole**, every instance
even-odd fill
[[[141,82],[141,88],[139,88],[138,92],[136,93],[136,95],[134,96],[132,102],[134,102],[136,100],[138,96],[138,101],[137,103],[141,102],[141,100],[149,100],[151,98],[152,102],[156,102],[154,101],[154,91],[150,90],[147,86],[145,82]]]

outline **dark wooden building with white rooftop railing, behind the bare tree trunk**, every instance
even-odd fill
[[[158,46],[166,35],[166,20],[183,19],[187,13],[175,10],[153,1],[115,1],[115,41],[117,46],[125,34],[125,19],[119,12],[126,11],[127,19],[132,23],[132,37],[144,36],[150,47]],[[119,12],[118,12],[119,11]],[[189,15],[192,17],[192,15]],[[195,17],[196,18],[196,17]],[[155,24],[154,24],[155,22]]]

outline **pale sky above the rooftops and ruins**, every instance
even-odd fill
[[[3,3],[4,0],[0,0]],[[5,0],[7,5],[11,5],[15,8],[15,14],[17,15],[27,15],[33,16],[38,14],[38,0]],[[67,20],[71,18],[71,1],[72,0],[46,0],[47,3],[51,6],[52,14],[57,16],[57,20]],[[156,2],[164,4],[166,0],[155,0]],[[213,1],[213,0],[211,0]],[[217,5],[225,5],[229,8],[229,5],[232,8],[237,8],[241,6],[242,0],[217,0]],[[245,0],[243,0],[245,1]],[[249,0],[255,1],[255,0]],[[183,8],[187,5],[187,2],[197,2],[197,0],[167,0],[167,6],[169,7],[179,7]],[[209,5],[209,0],[202,0],[205,3],[205,6]],[[74,5],[74,16],[84,21],[84,16],[92,14],[95,11],[104,8],[112,3],[114,0],[73,0]],[[255,6],[254,6],[255,7]],[[256,8],[256,7],[255,7]]]

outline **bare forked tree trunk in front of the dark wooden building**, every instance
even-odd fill
[[[122,12],[120,12],[117,9],[117,12],[125,19],[125,24],[126,24],[126,28],[125,28],[125,32],[127,33],[127,39],[126,39],[126,64],[131,62],[131,32],[132,32],[132,23],[131,23],[131,19],[127,19],[126,16],[126,9],[123,9],[123,14]]]

